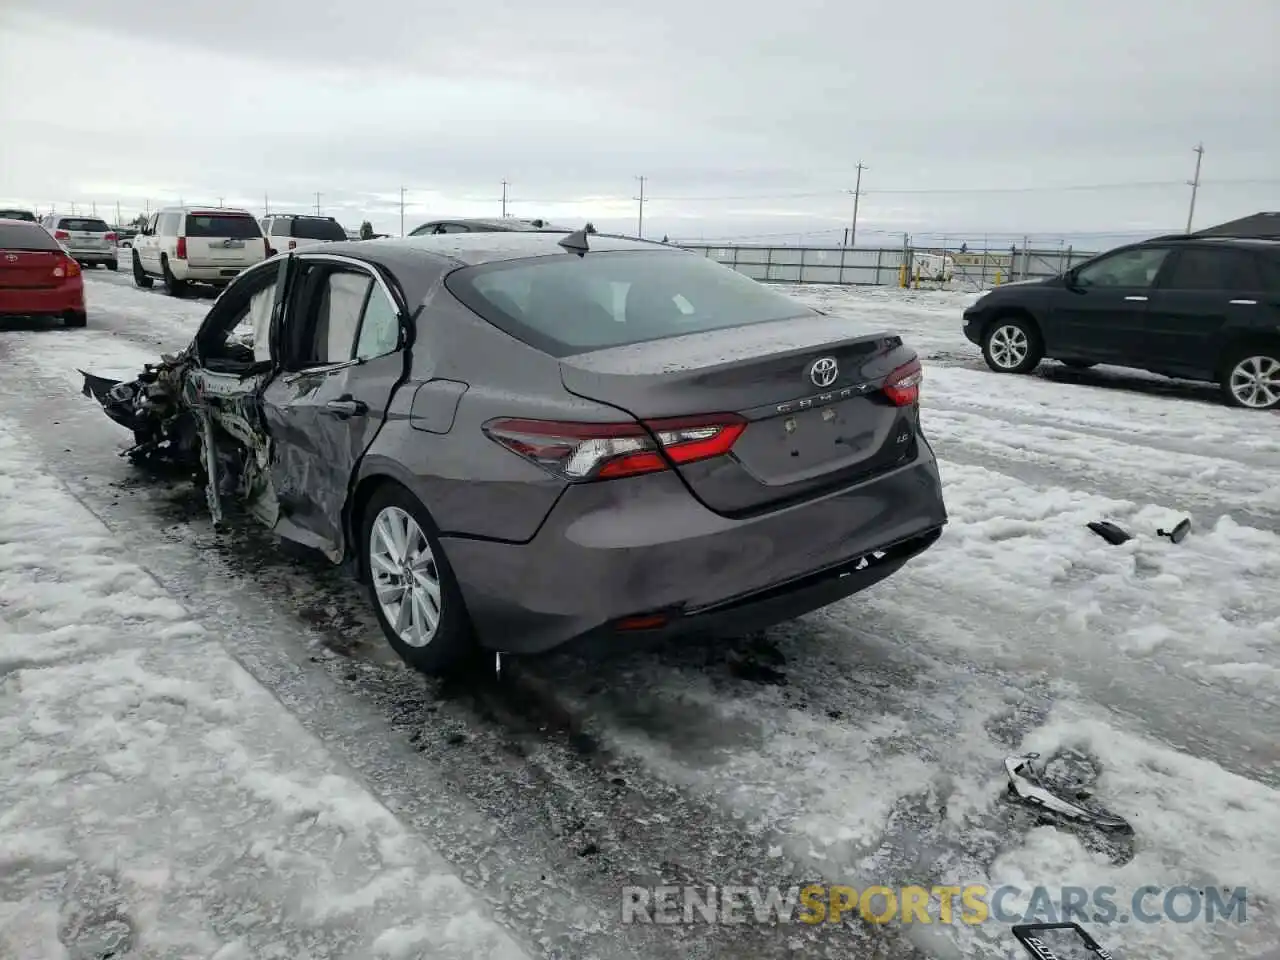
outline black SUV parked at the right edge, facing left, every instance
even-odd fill
[[[1280,406],[1280,241],[1157,237],[1061,276],[997,287],[964,312],[987,365],[1043,357],[1220,384],[1233,406]]]

